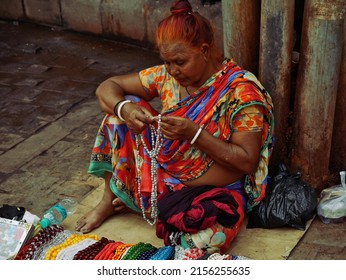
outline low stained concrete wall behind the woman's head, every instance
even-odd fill
[[[158,22],[169,14],[168,0],[0,0],[0,19],[34,22],[91,33],[144,47],[154,45]],[[195,11],[210,19],[218,46],[223,49],[221,3],[202,5],[190,0]]]

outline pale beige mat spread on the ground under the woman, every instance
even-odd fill
[[[100,201],[103,189],[104,184],[87,195],[78,204],[75,214],[68,216],[62,226],[67,230],[74,230],[78,219]],[[311,221],[307,223],[306,229],[303,231],[294,228],[247,229],[247,219],[245,219],[240,232],[225,251],[225,254],[244,256],[252,260],[287,259],[308,230]],[[121,213],[112,216],[89,234],[97,234],[123,243],[144,242],[158,248],[164,246],[163,240],[156,236],[155,226],[149,225],[141,215],[134,213]]]

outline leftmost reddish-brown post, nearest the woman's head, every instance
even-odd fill
[[[260,0],[222,1],[224,52],[243,69],[258,72]]]

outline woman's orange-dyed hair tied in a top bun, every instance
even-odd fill
[[[187,0],[175,1],[170,9],[171,15],[163,19],[156,30],[156,44],[160,48],[171,42],[186,43],[192,48],[209,44],[216,52],[214,30],[210,22],[198,12],[193,12]]]

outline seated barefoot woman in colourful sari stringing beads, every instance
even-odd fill
[[[272,102],[251,73],[222,58],[210,23],[188,1],[175,1],[156,42],[163,65],[97,88],[107,115],[89,172],[105,179],[105,192],[76,229],[132,209],[165,244],[224,251],[246,206],[265,193]]]

